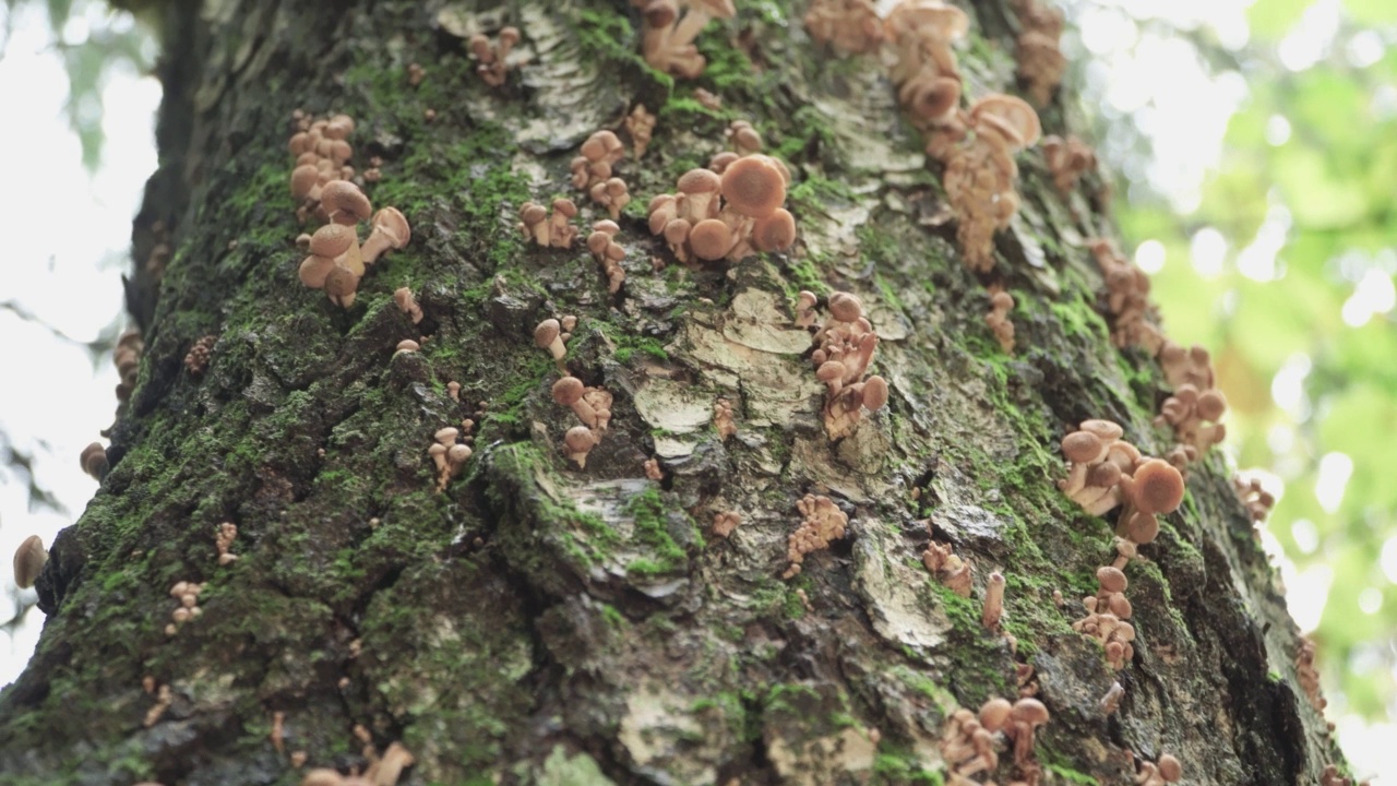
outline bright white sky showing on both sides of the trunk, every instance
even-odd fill
[[[1069,34],[1067,52],[1070,57],[1090,53],[1087,80],[1099,91],[1094,103],[1108,120],[1133,117],[1154,144],[1154,158],[1141,162],[1134,157],[1136,169],[1127,166],[1125,175],[1151,182],[1180,211],[1193,208],[1203,176],[1221,152],[1228,116],[1246,98],[1246,84],[1238,74],[1211,76],[1192,45],[1143,21],[1160,18],[1180,29],[1207,27],[1222,46],[1235,49],[1248,42],[1245,11],[1252,0],[1069,1],[1076,6],[1078,29]],[[882,3],[887,6],[891,0]],[[110,74],[103,88],[106,155],[95,175],[87,172],[78,138],[63,113],[67,74],[38,6],[18,6],[15,18],[8,20],[13,38],[0,59],[0,106],[6,106],[7,117],[0,123],[0,150],[10,151],[0,178],[22,185],[0,189],[0,217],[4,217],[0,229],[7,245],[7,259],[0,267],[0,302],[17,301],[63,334],[89,341],[122,316],[120,274],[130,264],[130,222],[145,178],[156,164],[152,129],[159,84],[130,70]],[[1305,24],[1296,25],[1280,50],[1287,67],[1305,67],[1324,52],[1333,42],[1337,8],[1337,0],[1319,0]],[[6,13],[0,4],[0,20]],[[70,24],[64,35],[81,39],[89,24],[103,24],[103,18],[102,13],[88,13]],[[1380,42],[1377,49],[1380,56]],[[1288,127],[1277,126],[1274,134],[1284,138]],[[1257,236],[1248,241],[1238,256],[1245,274],[1270,277],[1287,220],[1284,210],[1277,208]],[[1227,250],[1228,239],[1220,232],[1200,229],[1193,239],[1192,264],[1204,276],[1217,274]],[[1150,242],[1141,243],[1136,260],[1150,271],[1166,263],[1162,245]],[[1397,259],[1383,263],[1390,267]],[[1376,277],[1375,283],[1377,278],[1379,285],[1355,290],[1345,305],[1343,316],[1351,324],[1393,309],[1390,277]],[[1296,393],[1309,372],[1308,362],[1298,357],[1277,375],[1273,393],[1281,407],[1308,406]],[[52,544],[57,530],[81,513],[96,488],[80,470],[78,453],[110,425],[117,379],[109,358],[94,368],[82,347],[6,310],[0,310],[0,368],[7,372],[7,383],[0,385],[0,432],[17,449],[34,455],[41,484],[68,510],[67,516],[29,510],[25,485],[0,467],[3,620],[21,592],[14,587],[10,566],[20,541],[39,534],[45,545]],[[1348,457],[1341,453],[1324,457],[1323,488],[1316,490],[1322,498],[1333,496],[1337,503],[1343,495],[1345,462]],[[1351,470],[1352,464],[1347,467]],[[1295,526],[1296,541],[1303,545],[1305,522]],[[1397,580],[1397,543],[1387,547],[1382,566]],[[1292,614],[1302,628],[1310,629],[1319,621],[1333,576],[1323,566],[1305,573],[1296,573],[1294,565],[1285,569]],[[32,590],[28,592],[32,599]],[[41,625],[42,614],[31,610],[13,638],[0,629],[0,685],[24,667]],[[1397,785],[1397,745],[1391,744],[1397,740],[1397,726],[1365,724],[1351,716],[1337,717],[1337,723],[1355,771],[1380,776],[1375,786]]]

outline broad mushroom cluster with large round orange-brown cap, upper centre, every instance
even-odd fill
[[[795,218],[787,211],[791,171],[767,155],[718,154],[721,173],[690,169],[678,193],[650,201],[650,231],[664,235],[675,259],[739,262],[754,252],[795,243]]]

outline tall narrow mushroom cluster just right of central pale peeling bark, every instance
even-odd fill
[[[887,404],[888,387],[882,376],[863,378],[877,348],[877,334],[863,316],[859,298],[835,292],[828,309],[828,319],[814,334],[810,362],[826,386],[824,431],[830,439],[841,439],[858,428],[863,408],[872,413]]]

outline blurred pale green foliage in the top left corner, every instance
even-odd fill
[[[6,20],[0,31],[0,56],[8,45],[21,6],[39,0],[4,0]],[[82,143],[82,164],[96,169],[102,158],[102,87],[116,69],[148,71],[155,50],[148,32],[137,28],[130,14],[110,10],[103,0],[43,0],[53,34],[53,48],[61,55],[68,74],[64,112]]]

